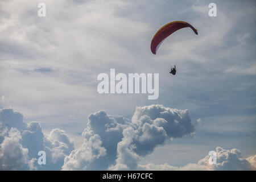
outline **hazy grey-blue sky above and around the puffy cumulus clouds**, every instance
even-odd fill
[[[188,109],[193,137],[156,146],[142,164],[196,163],[217,146],[255,155],[255,1],[42,1],[0,2],[0,109],[13,108],[24,122],[38,121],[44,133],[59,128],[83,143],[88,115],[133,117],[137,106]],[[150,52],[155,32],[184,20]],[[170,76],[176,64],[177,75]],[[98,94],[97,75],[159,73],[159,98],[146,94]],[[171,157],[171,156],[172,157]]]

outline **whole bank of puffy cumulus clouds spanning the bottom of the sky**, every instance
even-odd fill
[[[194,125],[188,110],[163,105],[137,107],[131,120],[97,111],[88,117],[84,142],[74,148],[65,131],[42,132],[38,122],[23,122],[13,109],[0,110],[1,170],[255,170],[256,155],[242,158],[236,148],[217,147],[217,164],[209,156],[183,167],[139,164],[154,148],[172,138],[192,136]],[[46,165],[37,163],[38,151],[46,151]]]

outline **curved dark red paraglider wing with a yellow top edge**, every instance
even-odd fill
[[[166,39],[169,35],[171,35],[175,31],[185,27],[190,27],[195,32],[195,34],[198,35],[197,30],[187,22],[175,21],[175,22],[167,23],[162,28],[160,28],[152,38],[151,46],[150,46],[151,52],[156,54],[156,51],[158,50],[160,44],[164,41],[164,39]]]

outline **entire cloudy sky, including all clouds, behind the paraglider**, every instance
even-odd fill
[[[256,3],[214,1],[210,17],[211,2],[1,1],[0,169],[255,169]],[[199,35],[183,28],[153,55],[175,20]],[[98,93],[112,68],[159,73],[158,99]]]

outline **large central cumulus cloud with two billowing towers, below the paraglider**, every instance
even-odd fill
[[[193,132],[188,110],[163,105],[137,107],[131,121],[98,111],[89,115],[82,133],[84,143],[65,158],[63,169],[136,169],[139,159],[156,146]],[[97,147],[90,142],[92,138],[99,144]],[[95,150],[101,155],[92,155]]]

